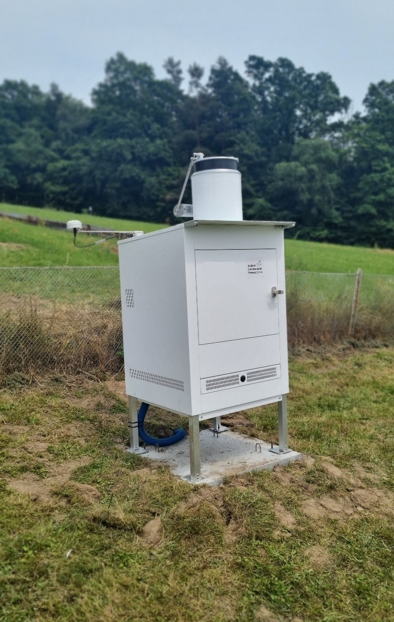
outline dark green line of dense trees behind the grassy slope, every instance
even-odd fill
[[[168,58],[167,78],[117,53],[88,106],[57,85],[0,85],[0,199],[173,221],[191,154],[239,157],[244,216],[295,220],[293,235],[394,248],[394,81],[349,114],[325,72],[249,56],[204,80]],[[188,197],[185,197],[188,200]],[[189,197],[190,200],[190,197]]]

